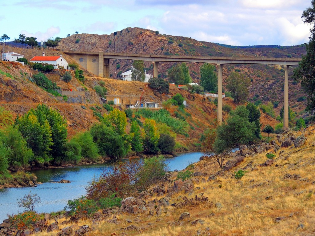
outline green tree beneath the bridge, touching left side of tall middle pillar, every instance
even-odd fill
[[[200,67],[200,84],[206,91],[218,91],[218,75],[214,65],[204,63]]]

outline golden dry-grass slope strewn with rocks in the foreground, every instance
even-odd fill
[[[203,157],[189,165],[187,180],[171,172],[165,182],[88,220],[46,214],[33,228],[17,231],[8,219],[0,235],[313,235],[314,131],[309,126],[270,143],[243,146],[243,155],[231,154],[223,169]],[[268,153],[275,158],[267,159]],[[244,175],[237,179],[239,171]]]

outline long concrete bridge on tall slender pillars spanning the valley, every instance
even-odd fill
[[[104,53],[68,51],[63,53],[69,55],[86,70],[99,77],[110,77],[110,59],[127,59],[151,61],[153,64],[153,77],[158,75],[158,64],[160,62],[198,62],[216,64],[219,68],[218,76],[218,123],[222,123],[222,70],[224,64],[268,64],[284,66],[284,128],[289,127],[289,66],[299,65],[301,58],[237,58],[237,57],[202,57],[202,56],[175,56],[155,54],[127,54],[127,53]]]

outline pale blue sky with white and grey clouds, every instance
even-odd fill
[[[308,42],[311,0],[0,0],[0,36],[37,41],[140,27],[238,46]],[[10,40],[10,41],[11,41]]]

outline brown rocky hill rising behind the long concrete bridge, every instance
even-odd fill
[[[304,45],[291,47],[279,46],[278,48],[228,48],[216,43],[199,42],[192,38],[161,35],[151,30],[141,28],[126,28],[113,32],[110,35],[75,34],[62,39],[59,49],[104,51],[118,53],[146,53],[160,55],[197,55],[197,56],[225,56],[225,57],[301,57],[305,53]],[[117,69],[117,64],[120,67]],[[159,74],[167,78],[167,70],[176,63],[160,63]],[[117,73],[129,70],[132,65],[130,60],[111,60],[112,78],[117,78]],[[194,82],[200,79],[200,63],[189,63],[189,69]],[[153,66],[145,62],[148,74],[153,74]],[[293,67],[290,67],[289,76],[292,75]],[[223,78],[227,78],[231,71],[239,71],[251,78],[250,99],[256,94],[260,95],[263,103],[268,101],[279,102],[276,113],[283,106],[284,100],[284,71],[281,67],[270,65],[225,65]],[[289,105],[297,113],[301,113],[306,101],[305,93],[300,83],[289,79]],[[300,98],[300,99],[299,99]],[[255,98],[254,98],[255,99]],[[298,101],[299,99],[299,101]],[[304,99],[304,100],[303,100]]]

